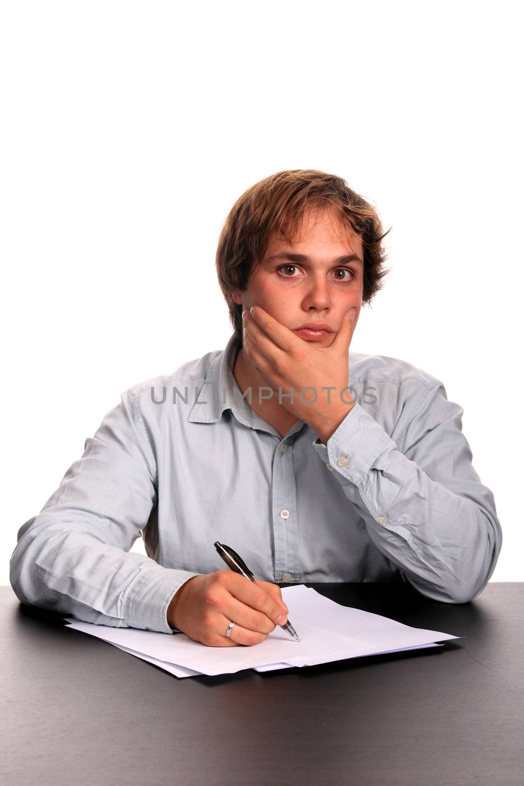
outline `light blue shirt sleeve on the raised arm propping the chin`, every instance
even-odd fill
[[[369,537],[421,593],[466,603],[482,592],[502,545],[493,494],[482,485],[462,433],[464,410],[441,382],[412,380],[412,414],[398,442],[357,402],[327,446],[346,497]],[[326,458],[327,454],[327,458]]]

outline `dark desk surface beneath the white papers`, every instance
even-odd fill
[[[0,780],[16,786],[524,783],[524,583],[469,604],[316,584],[442,648],[178,679],[0,587]]]

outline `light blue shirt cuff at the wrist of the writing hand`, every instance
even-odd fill
[[[199,575],[190,571],[177,571],[170,567],[153,567],[134,582],[124,604],[124,620],[131,628],[155,630],[172,634],[167,622],[167,608],[174,593],[189,578]]]

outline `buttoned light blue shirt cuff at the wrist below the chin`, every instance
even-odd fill
[[[356,402],[324,445],[317,437],[313,447],[322,461],[331,466],[342,486],[358,486],[377,458],[388,447],[397,447],[375,418]]]

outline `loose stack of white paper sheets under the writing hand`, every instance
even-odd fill
[[[436,641],[460,638],[438,630],[411,628],[394,619],[341,606],[303,585],[284,587],[282,598],[300,641],[277,627],[258,645],[207,647],[185,634],[169,636],[152,630],[93,625],[75,617],[66,621],[71,623],[69,628],[108,641],[176,677],[313,666],[384,652],[438,647],[442,645]]]

